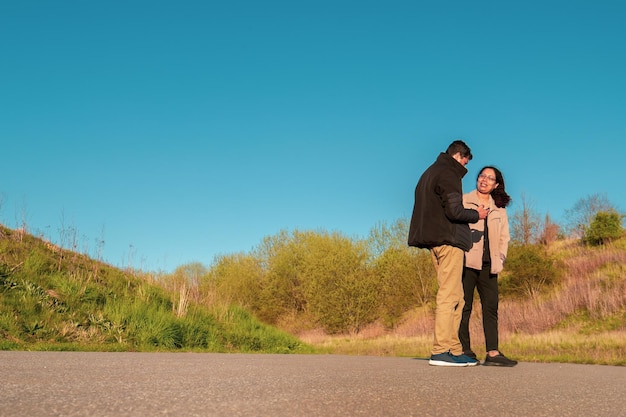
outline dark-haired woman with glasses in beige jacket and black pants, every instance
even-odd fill
[[[506,206],[510,201],[511,197],[504,188],[502,173],[493,166],[481,169],[476,189],[463,195],[463,204],[466,208],[482,206],[489,209],[489,215],[485,220],[470,224],[473,245],[465,253],[463,268],[465,306],[459,327],[459,340],[464,354],[476,358],[470,345],[469,321],[474,290],[478,289],[487,351],[483,365],[517,365],[517,361],[504,356],[498,348],[498,274],[504,266],[511,238],[506,213]]]

